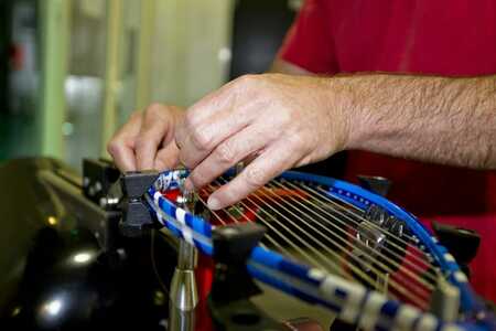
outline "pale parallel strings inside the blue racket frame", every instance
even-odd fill
[[[228,180],[220,177],[197,192],[204,210],[208,195]],[[379,289],[422,310],[429,308],[438,268],[417,246],[417,241],[408,234],[393,236],[367,222],[364,210],[330,195],[325,188],[276,179],[239,203],[208,213],[215,225],[238,222],[265,225],[268,232],[261,247]],[[388,245],[373,252],[358,241],[356,233],[364,222],[384,234]]]

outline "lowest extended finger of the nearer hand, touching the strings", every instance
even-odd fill
[[[298,161],[298,154],[283,142],[268,147],[240,174],[208,197],[208,207],[219,210],[240,201]]]

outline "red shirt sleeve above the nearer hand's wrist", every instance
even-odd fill
[[[306,0],[278,57],[315,74],[335,74],[337,63],[330,15],[326,0]]]

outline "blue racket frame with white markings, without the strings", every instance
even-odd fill
[[[214,225],[202,217],[177,207],[164,199],[155,186],[162,190],[179,188],[181,180],[188,174],[187,170],[173,170],[161,173],[157,185],[149,189],[145,199],[152,214],[172,235],[188,242],[202,253],[212,256],[212,229]],[[229,174],[229,173],[228,173]],[[466,276],[455,263],[448,249],[416,216],[402,210],[387,199],[374,194],[352,183],[309,173],[287,171],[279,178],[305,181],[326,188],[330,197],[344,200],[362,210],[377,205],[390,215],[407,224],[425,250],[431,254],[446,279],[456,286],[461,293],[463,321],[445,323],[429,312],[387,299],[385,296],[365,287],[326,274],[291,260],[276,252],[260,246],[252,250],[248,261],[248,270],[254,278],[276,287],[304,301],[327,307],[342,319],[360,324],[365,329],[389,330],[496,330],[496,322],[485,309],[467,282]]]

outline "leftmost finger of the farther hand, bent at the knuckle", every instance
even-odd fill
[[[141,127],[141,113],[136,111],[129,121],[125,124],[107,145],[107,150],[114,159],[117,168],[122,171],[137,169],[134,156],[134,139]]]

